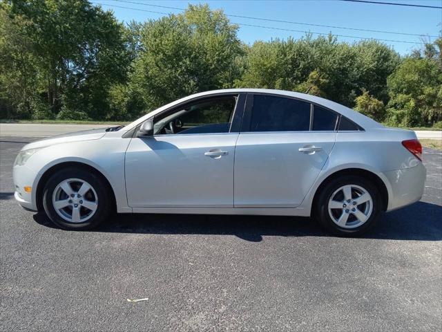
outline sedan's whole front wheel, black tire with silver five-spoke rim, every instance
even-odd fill
[[[104,181],[76,168],[61,169],[49,178],[43,205],[49,219],[67,230],[94,228],[113,210]]]

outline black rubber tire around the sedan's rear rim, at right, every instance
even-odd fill
[[[369,195],[372,197],[372,212],[362,225],[359,225],[355,228],[343,228],[337,225],[332,220],[332,217],[329,214],[328,204],[329,200],[332,198],[332,195],[336,192],[336,190],[339,190],[340,187],[343,187],[345,185],[356,185],[359,187],[362,187],[366,190],[366,192],[369,193]],[[335,196],[336,197],[336,196]],[[345,203],[345,202],[343,202]],[[362,205],[363,207],[365,205]],[[350,206],[350,210],[353,208],[353,206]],[[343,209],[343,212],[346,209]],[[340,210],[332,210],[332,214],[336,213],[339,214]],[[322,188],[320,193],[318,194],[318,199],[316,205],[314,205],[314,218],[318,221],[318,223],[325,228],[325,230],[331,232],[332,234],[336,234],[338,236],[342,237],[351,237],[351,236],[358,236],[361,235],[370,228],[372,228],[378,219],[381,217],[381,213],[383,211],[382,208],[382,201],[381,201],[381,194],[379,190],[376,188],[376,186],[368,181],[367,179],[361,177],[361,176],[343,176],[341,178],[336,178],[325,187]],[[352,214],[352,212],[349,212],[349,214]],[[367,214],[368,215],[368,214]],[[352,217],[353,219],[355,218]],[[352,220],[352,219],[349,219]],[[356,221],[355,221],[356,222]]]

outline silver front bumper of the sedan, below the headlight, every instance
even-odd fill
[[[35,202],[35,190],[37,190],[38,173],[34,170],[23,166],[14,166],[12,169],[12,178],[15,187],[15,200],[26,210],[37,211],[37,203]],[[25,192],[24,187],[32,187],[31,192]]]

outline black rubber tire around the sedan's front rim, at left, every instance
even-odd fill
[[[70,178],[77,178],[81,181],[86,181],[86,183],[91,185],[93,190],[95,190],[95,193],[88,192],[87,194],[93,195],[93,198],[95,198],[95,194],[97,195],[97,208],[95,212],[93,212],[92,216],[90,216],[86,221],[73,223],[63,219],[57,213],[52,203],[52,195],[54,194],[57,186]],[[73,183],[73,185],[75,185],[75,183]],[[59,228],[63,228],[64,230],[88,230],[97,227],[97,225],[108,219],[108,217],[114,212],[115,209],[111,197],[110,188],[108,188],[108,185],[104,183],[100,176],[97,176],[93,172],[86,169],[68,167],[53,174],[46,182],[43,192],[43,206],[49,219]],[[72,207],[66,209],[66,211],[69,211],[69,209],[72,209]],[[86,209],[81,211],[86,211],[85,214],[87,214],[92,210]]]

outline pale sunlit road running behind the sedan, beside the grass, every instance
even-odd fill
[[[71,131],[111,127],[113,124],[37,124],[37,123],[0,123],[0,136],[44,137]],[[442,140],[442,131],[417,130],[418,138]]]

